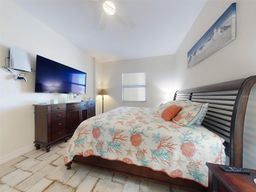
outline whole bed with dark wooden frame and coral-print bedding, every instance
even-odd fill
[[[207,191],[206,162],[225,164],[226,154],[231,166],[242,167],[244,117],[255,83],[256,76],[251,76],[178,90],[173,101],[158,108],[120,107],[89,118],[72,136],[65,165],[70,169],[74,162],[183,190]],[[164,120],[162,113],[174,106],[181,109]]]

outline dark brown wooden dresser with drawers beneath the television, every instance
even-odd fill
[[[75,102],[60,104],[35,104],[35,147],[46,146],[57,140],[68,141],[77,126],[84,120],[95,116],[95,102]]]

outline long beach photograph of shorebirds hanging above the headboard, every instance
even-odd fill
[[[236,3],[218,18],[188,52],[188,69],[236,38]]]

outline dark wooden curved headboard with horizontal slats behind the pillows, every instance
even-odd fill
[[[209,103],[202,126],[225,139],[230,166],[242,167],[244,118],[256,76],[197,88],[178,90],[174,100]]]

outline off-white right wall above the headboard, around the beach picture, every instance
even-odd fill
[[[201,86],[256,74],[256,1],[236,1],[236,39],[187,69],[187,52],[233,3],[207,1],[176,52],[181,87]],[[213,9],[214,8],[214,9]]]

